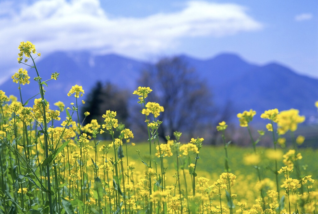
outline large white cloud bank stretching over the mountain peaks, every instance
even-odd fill
[[[7,8],[6,8],[7,7]],[[177,48],[184,37],[228,36],[262,29],[238,4],[190,1],[180,11],[110,18],[98,0],[39,0],[12,10],[0,5],[1,59],[16,62],[17,46],[31,41],[47,55],[56,50],[115,52],[137,58]],[[9,58],[10,57],[10,58]]]

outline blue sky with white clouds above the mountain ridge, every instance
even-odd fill
[[[89,50],[148,61],[231,52],[318,78],[316,0],[0,0],[0,26],[1,77],[19,68],[19,42],[31,41],[42,56]]]

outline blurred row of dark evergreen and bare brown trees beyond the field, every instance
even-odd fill
[[[163,121],[158,130],[162,140],[167,135],[173,138],[174,131],[190,137],[202,136],[207,127],[215,127],[220,122],[217,120],[226,120],[230,116],[228,109],[220,111],[213,105],[211,89],[180,57],[164,57],[155,65],[149,65],[141,71],[138,85],[153,90],[146,102],[157,102],[164,107],[164,112],[158,117]],[[90,112],[84,125],[92,119],[103,124],[102,114],[110,109],[117,112],[118,121],[125,123],[126,127],[136,133],[145,133],[145,118],[139,112],[140,108],[132,92],[109,82],[103,85],[99,81],[81,111]],[[210,131],[212,135],[217,134],[215,130]]]

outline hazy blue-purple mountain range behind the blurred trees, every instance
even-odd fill
[[[318,79],[297,74],[291,68],[276,62],[253,64],[232,53],[206,60],[187,55],[179,57],[195,69],[197,78],[205,81],[213,94],[215,105],[220,108],[231,105],[233,117],[250,108],[256,110],[258,115],[272,108],[280,111],[296,108],[306,117],[317,116],[314,103],[318,100]],[[83,86],[86,92],[84,100],[97,81],[110,82],[132,93],[138,87],[142,70],[154,64],[121,55],[94,56],[79,51],[54,52],[43,57],[37,63],[37,68],[43,80],[50,79],[51,73],[55,71],[60,73],[57,81],[47,82],[49,88],[46,99],[51,105],[56,101],[63,101],[67,106],[75,101],[74,97],[67,96],[75,84]],[[24,102],[38,91],[38,85],[32,81],[35,69],[25,69],[28,70],[31,83],[21,86]],[[20,97],[18,85],[12,79],[4,81],[0,90],[7,95]]]

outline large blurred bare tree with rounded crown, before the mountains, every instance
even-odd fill
[[[210,90],[180,57],[162,58],[144,70],[140,84],[153,89],[148,101],[164,107],[159,117],[163,121],[159,130],[163,138],[173,137],[174,131],[192,134],[211,119]]]

